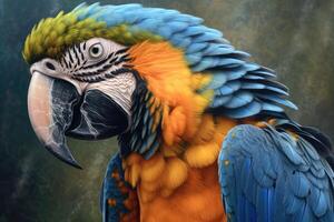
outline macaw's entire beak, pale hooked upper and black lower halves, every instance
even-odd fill
[[[80,94],[72,82],[49,77],[33,64],[28,91],[32,128],[48,151],[61,161],[81,169],[71,154],[66,135],[99,140],[128,129],[129,117],[110,97],[99,90]],[[41,72],[41,71],[43,72]]]

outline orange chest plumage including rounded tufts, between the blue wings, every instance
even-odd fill
[[[148,160],[135,153],[125,160],[125,179],[137,189],[141,222],[225,220],[217,158],[234,125],[204,115],[196,135],[180,152],[169,154],[161,148]]]

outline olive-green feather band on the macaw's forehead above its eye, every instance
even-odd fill
[[[160,41],[161,37],[145,30],[130,29],[127,23],[108,27],[94,18],[80,20],[86,8],[69,13],[59,12],[55,18],[42,19],[27,37],[22,51],[24,60],[31,64],[42,58],[57,59],[68,48],[91,38],[110,39],[124,46],[145,40]]]

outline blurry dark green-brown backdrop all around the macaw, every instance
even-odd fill
[[[82,0],[0,0],[0,222],[100,221],[99,189],[115,140],[70,141],[79,171],[41,148],[27,114],[26,36]],[[94,1],[87,1],[89,3]],[[128,0],[100,1],[127,3]],[[278,72],[299,107],[289,113],[334,138],[334,1],[143,0],[202,17],[253,60]]]

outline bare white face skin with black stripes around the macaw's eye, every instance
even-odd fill
[[[92,38],[67,49],[59,60],[46,58],[37,62],[31,72],[66,80],[79,94],[99,90],[130,115],[136,78],[131,67],[127,65],[130,59],[127,49],[107,39]]]

